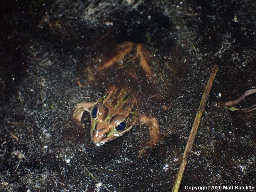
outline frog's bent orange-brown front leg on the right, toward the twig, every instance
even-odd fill
[[[159,128],[156,117],[141,116],[140,122],[142,124],[148,124],[149,126],[149,141],[147,146],[151,147],[156,145],[156,143],[159,141],[159,138],[160,138],[160,128]],[[145,152],[146,152],[146,149],[142,148],[140,150],[140,155],[144,154]]]

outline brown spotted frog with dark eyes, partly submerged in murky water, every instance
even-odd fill
[[[116,54],[96,68],[96,73],[104,73],[105,70],[115,64],[138,63],[148,81],[154,81],[152,66],[149,65],[150,52],[143,44],[123,42],[116,46]],[[136,76],[130,73],[136,80]],[[88,79],[92,80],[92,73],[88,73]],[[108,141],[121,137],[138,124],[147,124],[149,141],[147,146],[154,146],[159,141],[160,128],[155,116],[149,116],[140,112],[138,94],[129,86],[109,85],[106,92],[95,102],[80,102],[76,104],[73,118],[81,123],[84,112],[90,113],[91,137],[93,143],[101,146]],[[143,150],[142,150],[143,151]]]

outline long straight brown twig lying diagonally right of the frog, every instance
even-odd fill
[[[214,65],[213,69],[212,69],[211,76],[209,78],[209,81],[208,81],[208,83],[205,87],[204,94],[202,96],[200,106],[199,106],[199,109],[197,111],[196,118],[195,118],[194,124],[192,126],[192,129],[191,129],[191,132],[190,132],[190,135],[189,135],[189,138],[188,138],[188,142],[187,142],[184,154],[183,154],[183,158],[182,158],[182,162],[180,164],[179,171],[177,173],[177,178],[176,178],[175,184],[172,188],[172,192],[178,192],[178,190],[180,188],[180,183],[181,183],[181,180],[182,180],[182,177],[183,177],[183,173],[186,169],[186,165],[187,165],[187,162],[188,162],[187,158],[189,156],[190,150],[192,149],[192,146],[193,146],[193,143],[194,143],[194,140],[195,140],[195,137],[196,137],[197,128],[199,126],[202,114],[204,112],[206,101],[207,101],[209,93],[211,91],[212,83],[213,83],[213,80],[216,76],[217,70],[218,70],[218,66]]]

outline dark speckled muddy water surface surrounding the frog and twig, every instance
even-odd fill
[[[256,187],[256,110],[220,104],[255,89],[255,1],[1,1],[0,7],[1,191],[170,191],[214,64],[219,70],[180,191]],[[96,147],[89,114],[85,128],[71,118],[76,103],[96,101],[110,82],[126,83],[118,79],[125,68],[111,68],[91,84],[84,71],[124,41],[144,44],[156,59],[154,91],[137,74],[141,113],[156,116],[161,128],[159,143],[142,156],[146,125]],[[255,103],[252,94],[236,107]]]

